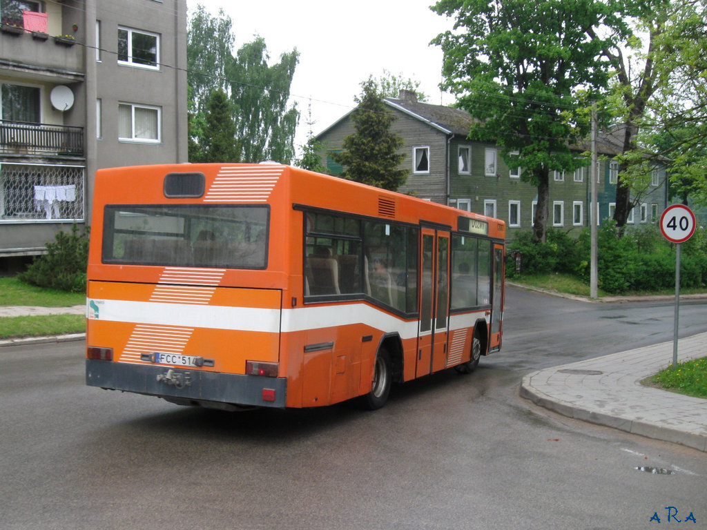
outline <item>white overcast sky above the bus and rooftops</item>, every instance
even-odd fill
[[[202,4],[233,20],[235,47],[264,38],[271,61],[297,48],[299,64],[291,93],[300,110],[296,144],[320,133],[354,107],[361,82],[384,70],[420,82],[428,102],[449,104],[440,94],[442,52],[429,42],[452,27],[429,9],[433,0],[187,0],[189,13]]]

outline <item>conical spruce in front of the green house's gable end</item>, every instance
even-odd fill
[[[397,153],[404,141],[390,131],[396,118],[385,107],[373,78],[361,83],[361,87],[361,96],[355,98],[358,106],[351,111],[356,132],[346,136],[344,151],[333,157],[344,166],[341,177],[395,192],[408,175],[407,170],[398,167],[405,158]]]

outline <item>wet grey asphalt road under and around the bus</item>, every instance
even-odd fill
[[[501,353],[373,413],[181,408],[84,386],[82,342],[1,348],[0,528],[706,527],[703,453],[518,397],[534,368],[672,337],[672,304],[507,300]],[[684,333],[705,309],[682,307]]]

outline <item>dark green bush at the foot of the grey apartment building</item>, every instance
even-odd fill
[[[86,290],[87,264],[88,230],[79,231],[74,224],[71,233],[57,232],[56,240],[47,243],[47,254],[35,258],[18,278],[40,287],[81,293]]]

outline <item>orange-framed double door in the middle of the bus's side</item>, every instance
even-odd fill
[[[421,230],[420,324],[415,377],[443,370],[449,320],[449,232]]]

